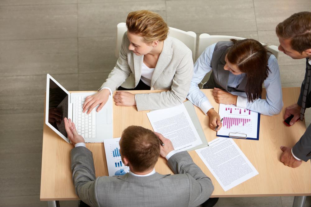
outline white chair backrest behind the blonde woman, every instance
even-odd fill
[[[117,25],[117,41],[116,41],[116,57],[119,57],[119,52],[122,44],[122,37],[123,34],[127,31],[126,24],[121,22]],[[197,41],[197,34],[194,32],[185,32],[180,29],[176,29],[173,27],[169,27],[169,35],[170,37],[174,37],[182,41],[189,49],[192,51],[192,58],[193,62],[195,61],[195,52],[196,52],[196,41]]]

